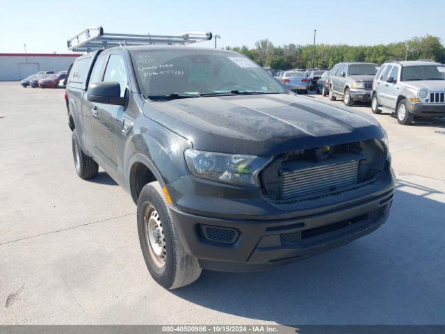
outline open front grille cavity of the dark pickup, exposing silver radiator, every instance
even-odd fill
[[[295,202],[357,189],[385,168],[380,141],[360,141],[286,152],[260,173],[268,200]]]

